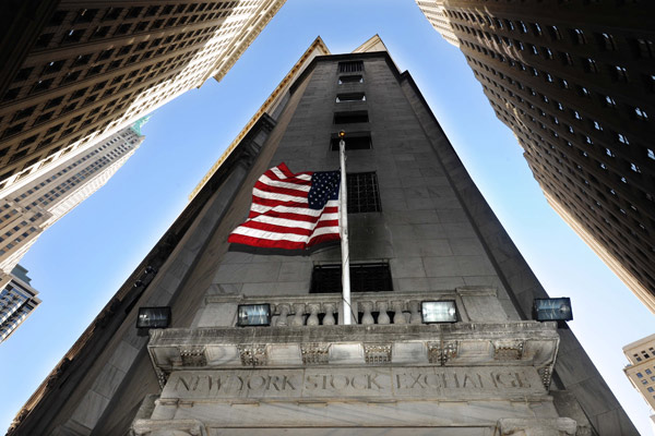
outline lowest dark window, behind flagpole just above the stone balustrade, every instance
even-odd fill
[[[391,292],[389,264],[350,264],[352,292]],[[310,293],[341,293],[342,266],[317,265],[311,275]]]

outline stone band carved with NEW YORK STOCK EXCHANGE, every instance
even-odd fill
[[[162,398],[485,398],[545,393],[534,368],[180,371]]]

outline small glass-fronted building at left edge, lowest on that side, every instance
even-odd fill
[[[38,291],[29,284],[27,269],[16,265],[0,281],[0,343],[4,342],[40,304]]]

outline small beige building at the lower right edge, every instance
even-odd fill
[[[655,410],[655,335],[627,344],[623,347],[623,354],[630,362],[623,372],[653,412]],[[655,413],[651,415],[651,420],[655,427]]]

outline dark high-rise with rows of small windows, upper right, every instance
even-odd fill
[[[645,1],[417,0],[548,203],[655,312],[655,12]]]

